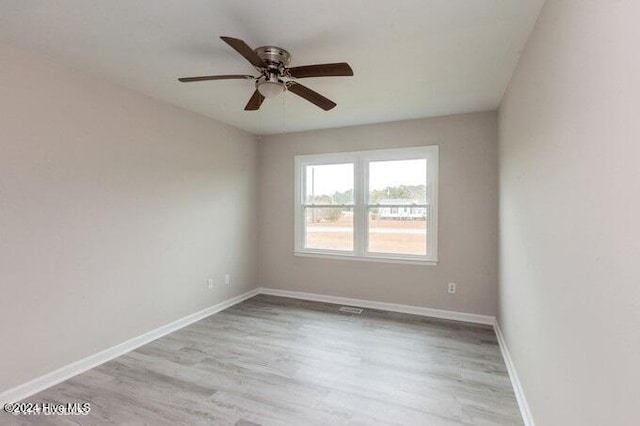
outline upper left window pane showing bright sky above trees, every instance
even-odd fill
[[[353,204],[353,163],[305,167],[305,204]]]

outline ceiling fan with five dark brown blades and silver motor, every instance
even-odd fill
[[[323,110],[329,111],[336,106],[335,102],[295,80],[308,77],[353,75],[353,70],[346,62],[290,68],[291,55],[281,47],[263,46],[254,50],[243,40],[232,37],[220,38],[244,56],[244,58],[260,72],[260,75],[258,77],[252,75],[206,75],[201,77],[184,77],[178,80],[183,83],[210,80],[254,80],[256,89],[244,107],[245,111],[257,111],[260,109],[260,105],[262,105],[265,98],[273,98],[287,90],[317,105]]]

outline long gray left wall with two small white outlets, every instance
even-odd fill
[[[0,392],[255,287],[253,136],[0,58]]]

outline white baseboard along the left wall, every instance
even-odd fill
[[[46,388],[49,388],[53,385],[57,385],[60,382],[70,379],[73,376],[76,376],[80,373],[84,373],[87,370],[97,367],[100,364],[104,364],[107,361],[110,361],[114,358],[124,355],[125,353],[130,352],[134,349],[137,349],[140,346],[145,345],[153,340],[156,340],[162,336],[165,336],[169,333],[172,333],[176,330],[186,327],[189,324],[192,324],[196,321],[200,321],[203,318],[206,318],[217,312],[225,310],[257,294],[258,294],[258,289],[254,289],[244,294],[241,294],[239,296],[232,297],[231,299],[227,299],[223,302],[210,306],[199,312],[195,312],[191,315],[187,315],[186,317],[180,318],[179,320],[173,321],[169,324],[165,324],[141,336],[134,337],[133,339],[127,340],[126,342],[120,343],[116,346],[112,346],[101,352],[95,353],[93,355],[89,355],[88,357],[83,358],[79,361],[65,365],[64,367],[59,368],[50,373],[47,373],[44,376],[37,377],[31,380],[30,382],[27,382],[22,385],[16,386],[12,389],[6,390],[0,393],[0,404],[4,405],[7,402],[20,401]]]

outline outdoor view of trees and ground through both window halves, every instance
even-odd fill
[[[425,255],[426,160],[375,161],[368,167],[367,251]],[[305,174],[305,248],[353,251],[353,163],[306,166]]]

